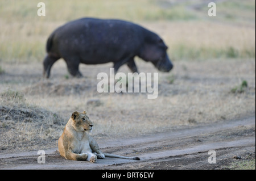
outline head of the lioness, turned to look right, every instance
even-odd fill
[[[93,123],[92,121],[89,119],[88,115],[86,115],[86,112],[73,112],[72,116],[72,125],[73,127],[76,129],[76,131],[78,132],[82,132],[82,131],[88,131],[91,132],[92,128],[93,128]]]

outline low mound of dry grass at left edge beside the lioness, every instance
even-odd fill
[[[33,149],[42,143],[47,148],[65,124],[57,113],[28,104],[20,91],[1,92],[0,105],[1,150]]]

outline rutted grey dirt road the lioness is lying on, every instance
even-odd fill
[[[255,158],[255,116],[137,138],[99,140],[98,144],[106,153],[133,155],[141,161],[69,161],[52,148],[44,150],[44,164],[38,163],[38,150],[0,154],[0,169],[228,169],[235,155]],[[208,163],[209,150],[216,151],[216,163]]]

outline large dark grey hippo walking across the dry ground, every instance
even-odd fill
[[[152,62],[160,71],[168,72],[172,63],[167,46],[155,33],[137,24],[115,19],[82,18],[57,28],[49,36],[44,58],[44,76],[49,78],[52,65],[63,58],[68,71],[81,77],[79,64],[114,63],[115,73],[127,64],[138,72],[134,57]]]

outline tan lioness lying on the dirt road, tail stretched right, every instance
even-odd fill
[[[102,153],[97,142],[88,134],[92,129],[93,123],[85,111],[82,113],[73,112],[58,141],[60,155],[66,159],[86,160],[92,163],[96,163],[97,158],[103,159],[105,157],[140,159]]]

